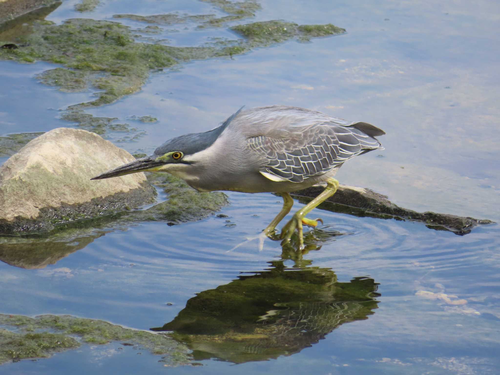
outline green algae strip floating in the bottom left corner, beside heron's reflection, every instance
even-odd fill
[[[190,362],[185,345],[165,335],[123,328],[103,320],[70,315],[31,318],[0,314],[0,325],[15,327],[15,331],[0,329],[0,364],[23,358],[48,357],[55,352],[76,348],[81,345],[80,342],[106,344],[111,341],[140,345],[153,354],[163,355],[162,361],[169,365]]]

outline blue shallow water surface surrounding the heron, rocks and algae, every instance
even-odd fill
[[[147,15],[151,6],[156,14],[222,14],[198,1],[105,1],[95,12],[83,14],[72,10],[74,3],[65,1],[47,19]],[[212,128],[242,104],[298,105],[368,121],[387,132],[380,138],[385,150],[350,161],[337,174],[341,183],[372,188],[407,208],[500,219],[496,208],[500,203],[499,57],[492,48],[500,35],[494,32],[500,14],[497,3],[261,4],[255,20],[331,22],[347,33],[153,73],[140,92],[87,112],[129,123],[131,115],[157,117],[156,123],[134,123],[146,134],[119,144],[130,152],[151,152],[158,139]],[[198,45],[209,41],[209,36],[231,37],[226,28],[177,28],[178,32],[166,36],[171,45]],[[92,90],[68,94],[37,83],[34,74],[53,66],[0,61],[4,82],[0,135],[68,126],[56,118],[58,109],[90,99]],[[240,272],[251,275],[270,269],[271,261],[282,261],[289,271],[294,266],[331,268],[338,282],[372,278],[379,283],[377,308],[367,319],[340,324],[297,353],[246,362],[236,367],[239,371],[500,371],[498,224],[458,236],[429,230],[421,223],[317,210],[325,225],[312,234],[323,239],[310,244],[321,247],[298,259],[270,240],[260,252],[256,241],[228,251],[259,233],[281,205],[272,194],[228,196],[231,204],[220,212],[227,218],[212,216],[174,226],[141,223],[110,230],[42,269],[1,263],[0,313],[71,314],[149,329],[171,321],[194,293],[228,284]],[[299,206],[295,202],[294,209]],[[331,235],[338,234],[334,231],[343,235]],[[7,364],[1,370],[8,374],[165,370],[159,356],[147,351],[137,355],[135,349],[118,350],[119,346],[82,346],[49,359]],[[199,362],[202,367],[168,371],[234,371],[230,362],[215,355]]]

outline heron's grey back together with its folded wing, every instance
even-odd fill
[[[365,122],[277,105],[242,111],[229,127],[243,132],[248,150],[262,159],[262,172],[290,182],[327,173],[379,148],[374,135],[384,134]]]

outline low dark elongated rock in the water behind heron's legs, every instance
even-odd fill
[[[296,191],[295,196],[317,196],[323,190],[322,186],[311,186]],[[335,207],[325,207],[328,211],[348,213],[355,216],[371,216],[378,218],[395,218],[399,220],[421,221],[430,229],[448,230],[458,235],[470,233],[478,224],[489,224],[491,220],[462,217],[447,213],[416,212],[402,208],[387,199],[386,195],[379,194],[370,189],[339,185],[333,196],[327,202],[337,203]]]

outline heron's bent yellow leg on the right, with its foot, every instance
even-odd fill
[[[281,243],[286,243],[290,240],[295,229],[298,231],[298,241],[300,248],[304,246],[304,239],[302,233],[302,222],[306,225],[309,223],[313,224],[315,220],[305,219],[305,215],[309,213],[313,208],[317,207],[320,203],[328,199],[332,196],[335,191],[337,191],[338,181],[335,178],[328,178],[326,180],[326,188],[321,191],[314,199],[312,199],[309,203],[295,212],[292,218],[283,226],[281,229],[280,238],[283,239]],[[281,213],[281,212],[280,212]],[[305,220],[304,220],[305,219]],[[317,221],[316,221],[317,225]],[[315,226],[315,225],[312,225]]]

